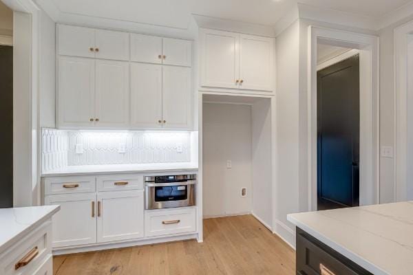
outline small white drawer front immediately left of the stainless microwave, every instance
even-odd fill
[[[143,175],[105,175],[97,177],[98,191],[143,189]]]

